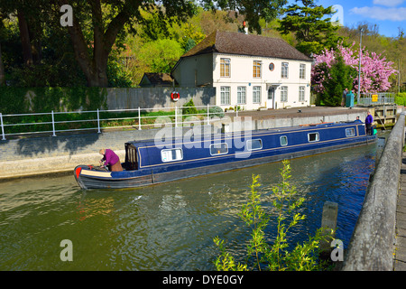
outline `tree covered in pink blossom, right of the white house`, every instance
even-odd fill
[[[346,65],[351,66],[357,72],[359,70],[359,50],[353,49],[355,42],[351,47],[345,47],[338,43],[337,50],[325,50],[318,55],[314,55],[314,65],[311,69],[311,82],[316,92],[323,92],[325,81],[330,78],[328,69],[335,63],[337,56],[341,55]],[[361,50],[361,93],[383,92],[391,88],[389,81],[394,70],[392,61],[386,61],[382,54]],[[322,66],[328,69],[320,69]],[[358,76],[353,80],[355,91],[358,91]]]

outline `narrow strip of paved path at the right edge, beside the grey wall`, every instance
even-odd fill
[[[401,180],[396,208],[396,240],[393,253],[394,271],[406,271],[406,153],[401,159]]]

